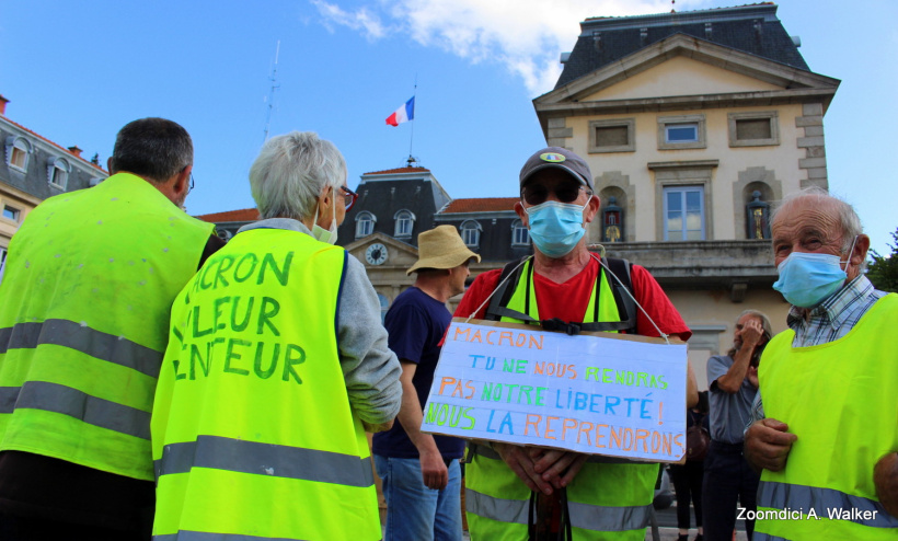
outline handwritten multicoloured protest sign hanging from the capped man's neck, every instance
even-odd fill
[[[677,462],[686,451],[686,344],[457,318],[422,430]]]

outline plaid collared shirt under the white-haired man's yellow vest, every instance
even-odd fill
[[[792,347],[819,346],[841,338],[854,329],[866,311],[885,295],[884,291],[874,289],[866,276],[859,275],[848,286],[809,312],[806,308],[792,307],[786,318],[786,324],[795,331]],[[758,394],[755,395],[755,403],[751,405],[751,418],[748,426],[762,418],[764,418],[764,406],[759,389]]]

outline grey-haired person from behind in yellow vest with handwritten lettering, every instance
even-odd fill
[[[381,538],[365,431],[402,372],[365,267],[334,246],[354,194],[315,134],[250,170],[262,218],[175,298],[151,423],[159,539]]]

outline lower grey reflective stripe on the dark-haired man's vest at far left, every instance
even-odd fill
[[[0,387],[0,413],[43,410],[61,413],[89,425],[128,436],[150,439],[150,412],[99,399],[58,383],[26,381],[21,388]]]

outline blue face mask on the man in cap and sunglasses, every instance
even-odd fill
[[[545,202],[525,209],[530,221],[530,238],[540,252],[549,257],[571,253],[586,234],[583,210],[586,205]]]

